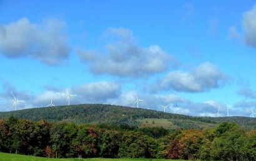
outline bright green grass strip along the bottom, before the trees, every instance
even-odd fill
[[[146,160],[152,160],[152,161],[164,161],[165,159],[102,159],[102,158],[95,158],[95,159],[49,159],[44,157],[33,157],[33,156],[27,156],[27,155],[19,155],[19,154],[6,154],[0,152],[0,161],[72,161],[72,160],[88,160],[88,161],[146,161]],[[170,160],[169,160],[170,161]]]

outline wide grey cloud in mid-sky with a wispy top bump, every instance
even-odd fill
[[[108,29],[104,36],[111,39],[105,53],[77,49],[79,58],[89,64],[94,74],[142,77],[179,64],[177,59],[157,45],[147,48],[137,46],[128,29]]]

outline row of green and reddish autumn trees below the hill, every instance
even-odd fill
[[[0,120],[0,151],[40,157],[256,160],[256,130],[234,122],[212,129],[169,131],[128,124]]]

